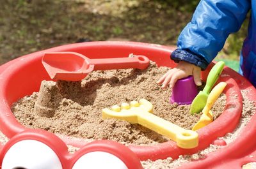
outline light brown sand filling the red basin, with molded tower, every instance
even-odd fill
[[[155,115],[191,129],[202,114],[189,114],[190,105],[169,103],[170,89],[163,90],[156,84],[167,70],[166,67],[157,68],[156,63],[151,62],[147,70],[94,71],[81,82],[43,81],[40,92],[17,101],[12,112],[28,128],[77,138],[108,139],[136,145],[166,142],[168,138],[140,124],[102,119],[102,109],[143,98],[152,103]],[[223,94],[212,108],[215,119],[224,107]]]

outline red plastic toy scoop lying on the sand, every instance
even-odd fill
[[[148,67],[149,59],[144,55],[132,57],[89,59],[76,52],[52,52],[42,57],[42,64],[52,79],[79,81],[93,70],[118,70]]]

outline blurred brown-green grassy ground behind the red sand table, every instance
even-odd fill
[[[0,64],[80,38],[176,45],[198,0],[6,0],[0,6]],[[217,58],[238,60],[246,24]]]

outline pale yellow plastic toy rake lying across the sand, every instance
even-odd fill
[[[102,117],[103,119],[115,118],[132,124],[141,124],[161,135],[167,136],[184,149],[192,149],[198,146],[198,133],[196,131],[180,128],[172,122],[152,114],[152,112],[152,104],[146,99],[140,99],[139,102],[131,101],[130,105],[128,103],[122,103],[121,107],[114,105],[111,110],[104,108]]]

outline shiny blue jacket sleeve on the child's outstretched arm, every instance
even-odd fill
[[[202,0],[191,22],[180,33],[175,62],[187,61],[204,70],[230,33],[238,31],[251,8],[247,0]]]

